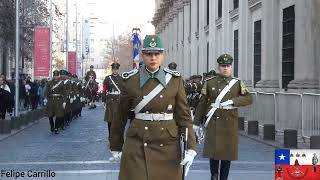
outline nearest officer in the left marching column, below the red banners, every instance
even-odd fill
[[[64,85],[59,78],[59,71],[53,72],[53,79],[46,85],[44,97],[45,104],[47,104],[47,114],[50,122],[50,130],[58,134],[58,128],[61,126],[64,116]],[[54,117],[55,121],[54,121]]]

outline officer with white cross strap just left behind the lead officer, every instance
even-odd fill
[[[120,109],[120,83],[122,83],[119,75],[120,64],[115,62],[111,64],[112,74],[106,76],[103,81],[102,100],[106,103],[106,111],[104,121],[108,122],[108,132],[110,136],[111,123],[115,119],[121,119],[122,114]]]

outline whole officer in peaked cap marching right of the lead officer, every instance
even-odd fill
[[[233,58],[223,54],[217,62],[219,74],[207,79],[201,90],[194,129],[197,133],[205,118],[203,156],[210,159],[211,179],[217,180],[220,172],[220,180],[227,180],[231,161],[238,159],[237,108],[250,105],[252,97],[243,81],[232,77]]]

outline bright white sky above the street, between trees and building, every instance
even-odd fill
[[[139,27],[142,36],[153,34],[154,27],[150,23],[155,11],[154,0],[77,0],[81,2],[82,10],[100,20],[110,23],[106,33],[112,34],[112,25],[115,34],[131,32],[133,27]],[[88,4],[89,3],[89,4]]]

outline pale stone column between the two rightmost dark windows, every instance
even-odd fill
[[[279,2],[262,1],[261,81],[257,90],[279,91]]]

